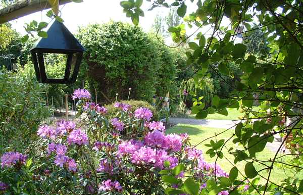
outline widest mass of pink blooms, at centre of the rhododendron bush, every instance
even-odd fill
[[[118,156],[129,156],[136,165],[153,165],[160,169],[164,168],[165,161],[170,162],[171,168],[178,164],[178,159],[169,156],[167,151],[151,148],[141,141],[122,141],[118,146]]]

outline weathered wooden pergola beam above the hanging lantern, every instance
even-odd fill
[[[70,2],[71,0],[60,0],[59,5]],[[51,6],[47,3],[47,0],[21,0],[0,10],[0,24],[49,8]]]

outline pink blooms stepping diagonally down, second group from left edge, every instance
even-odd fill
[[[50,155],[52,152],[56,151],[56,158],[54,163],[57,166],[63,167],[66,165],[68,170],[76,172],[77,171],[77,163],[74,159],[69,158],[66,156],[67,152],[67,146],[63,145],[61,143],[56,144],[54,142],[48,144],[48,155]]]

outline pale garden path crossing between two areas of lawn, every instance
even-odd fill
[[[163,122],[165,121],[162,120]],[[239,123],[240,121],[232,121],[232,120],[215,120],[215,119],[188,119],[188,118],[177,118],[171,117],[169,119],[169,124],[188,124],[188,125],[201,125],[205,127],[213,127],[213,128],[221,128],[221,129],[234,129],[235,124]],[[266,147],[273,151],[277,152],[281,145],[281,138],[279,134],[276,134],[275,139],[272,143],[267,142]],[[290,154],[290,151],[285,148],[285,145],[280,150],[282,153]]]

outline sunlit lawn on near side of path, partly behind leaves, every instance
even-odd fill
[[[196,145],[198,144],[201,140],[206,139],[208,137],[214,136],[215,133],[218,134],[219,132],[224,131],[225,129],[218,129],[218,128],[210,128],[210,127],[203,127],[203,126],[198,126],[198,125],[185,125],[185,124],[178,124],[175,125],[169,129],[167,129],[167,133],[187,133],[190,135],[190,142],[192,145]],[[233,130],[228,130],[220,135],[218,135],[217,140],[220,139],[225,139],[227,140],[229,137],[231,137],[233,133]],[[215,139],[215,138],[213,138]],[[200,143],[197,145],[197,149],[202,150],[204,153],[210,149],[209,147],[206,147],[205,144],[206,143],[210,143],[210,139],[206,140],[203,143]],[[240,145],[235,145],[231,141],[226,143],[226,147],[229,149],[230,147],[233,148],[237,148],[237,149],[242,149],[242,147]],[[226,157],[230,162],[234,163],[234,156],[228,153],[228,150],[226,148],[224,148],[222,150],[222,152],[224,153],[224,157]],[[273,159],[275,153],[266,149],[261,152],[261,153],[257,153],[257,159],[259,160],[269,160],[269,159]],[[279,155],[278,155],[279,156]],[[215,162],[216,157],[214,158],[210,158],[209,155],[204,154],[204,158],[207,162]],[[283,162],[287,162],[290,161],[291,158],[289,156],[286,157],[282,157]],[[222,167],[223,170],[225,170],[227,173],[229,172],[229,170],[233,167],[233,165],[231,165],[228,160],[226,160],[225,158],[223,159],[219,159],[217,163]],[[246,162],[245,161],[241,161],[238,162],[236,164],[236,167],[239,169],[239,171],[244,175],[244,166],[245,166]],[[269,165],[269,164],[268,164]],[[254,163],[254,166],[256,167],[256,170],[261,170],[263,168],[265,168],[264,165],[258,164],[258,163]],[[268,173],[266,172],[266,170],[260,172],[260,174],[263,177],[268,176]],[[239,174],[240,175],[240,174]],[[271,177],[270,180],[273,182],[281,182],[283,179],[285,179],[287,176],[290,177],[294,177],[294,178],[298,178],[298,179],[303,179],[303,171],[300,172],[296,172],[293,169],[290,169],[289,167],[282,167],[280,163],[275,163],[274,165],[274,169],[272,170],[271,173]],[[261,178],[261,182],[265,183],[265,179]]]

